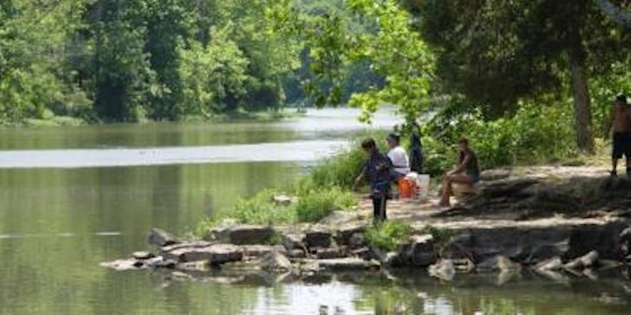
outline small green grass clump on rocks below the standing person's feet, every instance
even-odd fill
[[[385,221],[368,227],[366,239],[370,246],[387,250],[396,250],[412,235],[412,227],[403,221]]]

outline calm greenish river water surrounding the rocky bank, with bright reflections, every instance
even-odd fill
[[[171,281],[102,261],[186,234],[239,196],[281,185],[365,128],[353,110],[276,123],[0,130],[0,314],[628,314],[620,277],[444,283],[423,272],[300,282]],[[380,113],[374,127],[398,120]]]

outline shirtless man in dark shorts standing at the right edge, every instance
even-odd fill
[[[631,175],[631,111],[627,96],[616,97],[611,109],[610,133],[613,135],[611,148],[611,176],[618,175],[618,159],[627,158],[627,175]]]

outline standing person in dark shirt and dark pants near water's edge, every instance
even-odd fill
[[[384,221],[387,217],[386,199],[390,190],[392,162],[386,154],[379,152],[374,139],[363,140],[362,149],[369,157],[363,165],[362,173],[355,178],[355,187],[363,178],[370,182],[374,219]]]

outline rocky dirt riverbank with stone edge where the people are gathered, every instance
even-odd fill
[[[510,280],[524,270],[555,281],[593,278],[631,258],[631,181],[604,174],[596,167],[501,169],[485,172],[478,192],[447,212],[431,200],[393,201],[389,221],[410,229],[391,248],[375,246],[371,205],[360,200],[355,210],[309,224],[225,225],[186,241],[156,229],[153,252],[104,266],[173,270],[173,277],[191,279],[221,270],[300,278],[395,268],[428,270],[442,280],[487,272]]]

